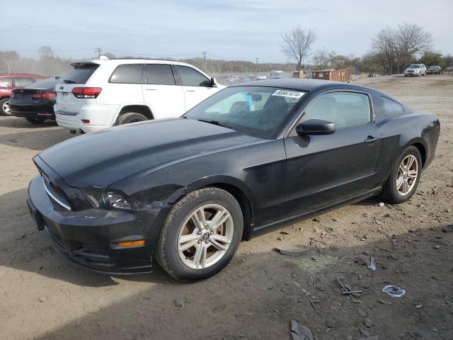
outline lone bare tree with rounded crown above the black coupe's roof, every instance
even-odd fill
[[[301,28],[299,25],[282,34],[283,42],[280,45],[282,52],[289,59],[296,60],[297,71],[300,71],[302,60],[310,54],[311,44],[316,40],[316,30]]]

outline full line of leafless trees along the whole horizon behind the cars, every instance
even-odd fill
[[[286,63],[254,63],[246,60],[207,60],[208,73],[212,74],[266,74],[273,69],[291,73],[304,68],[306,72],[315,69],[351,67],[352,72],[394,74],[413,63],[427,66],[439,65],[442,69],[453,67],[453,57],[432,50],[432,35],[424,28],[403,23],[396,28],[384,28],[371,40],[369,52],[362,57],[339,55],[326,48],[311,52],[311,46],[318,39],[316,30],[297,26],[282,34],[280,50],[287,56]],[[38,59],[21,57],[16,51],[0,51],[0,73],[35,73],[61,76],[71,69],[72,58],[58,57],[52,47],[39,48]],[[115,57],[105,52],[107,57]],[[131,56],[118,56],[131,57]],[[96,57],[81,58],[81,60]],[[164,58],[174,60],[171,58]],[[178,60],[204,69],[202,57]]]

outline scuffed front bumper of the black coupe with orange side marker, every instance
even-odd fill
[[[153,247],[160,229],[153,223],[159,219],[152,217],[161,211],[140,215],[116,210],[66,210],[47,196],[41,176],[32,179],[28,195],[28,208],[38,229],[45,230],[52,246],[72,263],[110,274],[151,271]],[[137,239],[145,239],[145,244],[118,245]]]

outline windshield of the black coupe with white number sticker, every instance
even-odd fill
[[[183,117],[273,139],[297,110],[304,94],[274,87],[232,86],[202,101]]]

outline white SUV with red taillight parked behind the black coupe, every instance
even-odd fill
[[[74,62],[55,86],[57,123],[93,132],[141,120],[178,117],[224,86],[182,62],[108,59]]]

